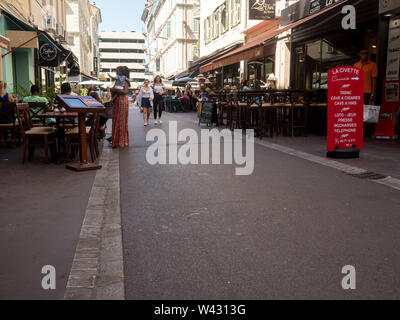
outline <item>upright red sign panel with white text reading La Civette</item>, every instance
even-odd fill
[[[364,71],[328,71],[328,151],[363,147]]]

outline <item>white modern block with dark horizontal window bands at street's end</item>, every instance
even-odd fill
[[[100,32],[100,80],[111,86],[118,66],[130,71],[131,88],[137,88],[145,79],[145,37],[142,32]]]

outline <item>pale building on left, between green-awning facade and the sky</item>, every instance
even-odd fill
[[[89,0],[67,0],[67,43],[79,60],[81,74],[69,81],[92,79],[93,46],[91,36],[92,7]]]

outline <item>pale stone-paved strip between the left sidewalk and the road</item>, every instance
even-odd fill
[[[124,300],[119,150],[103,146],[64,300]]]

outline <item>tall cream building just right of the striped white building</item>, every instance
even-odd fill
[[[154,0],[142,21],[147,30],[147,65],[153,75],[172,79],[198,58],[198,0]]]

